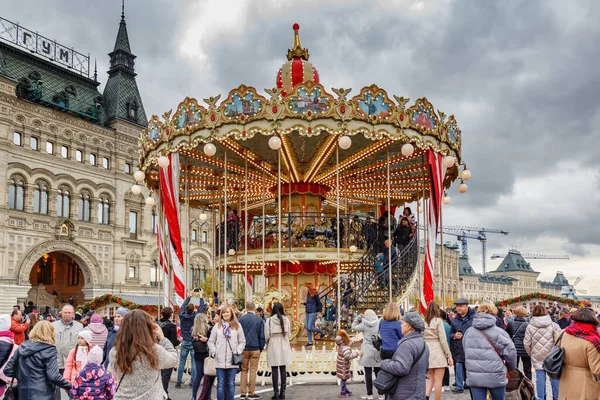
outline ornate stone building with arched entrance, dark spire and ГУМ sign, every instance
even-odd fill
[[[0,312],[70,296],[157,296],[155,211],[130,190],[147,119],[125,16],[102,93],[96,72],[27,51],[31,32],[0,40]],[[200,212],[190,211],[190,286],[213,265],[213,216],[200,223]]]

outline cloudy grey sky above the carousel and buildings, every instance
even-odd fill
[[[104,83],[120,0],[33,3],[0,0],[0,16],[91,53]],[[600,295],[600,2],[126,0],[125,14],[148,116],[273,87],[294,22],[325,87],[427,96],[456,115],[473,171],[444,223],[510,231],[488,235],[489,253],[570,254],[531,263]]]

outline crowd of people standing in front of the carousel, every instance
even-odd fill
[[[162,309],[160,320],[142,310],[119,308],[110,322],[94,313],[80,322],[67,304],[54,322],[42,318],[35,324],[15,307],[12,315],[0,315],[0,396],[10,388],[20,399],[54,400],[64,391],[82,400],[164,400],[174,368],[175,387],[183,385],[190,357],[192,400],[211,399],[215,380],[216,398],[233,399],[238,372],[241,397],[259,399],[257,370],[267,351],[270,398],[285,399],[291,321],[282,304],[274,303],[267,316],[252,302],[243,312],[230,303],[209,308],[201,292],[196,307],[193,296],[198,293],[191,292],[179,311],[179,325],[169,307]],[[335,306],[329,299],[326,303],[331,319]],[[600,322],[591,308],[519,305],[505,313],[491,302],[469,306],[458,299],[447,310],[431,302],[421,316],[412,310],[402,315],[392,302],[381,318],[373,310],[354,318],[351,331],[360,333],[358,347],[335,324],[321,325],[327,332],[311,329],[308,322],[314,323],[315,315],[308,314],[322,312],[316,291],[308,291],[306,307],[309,344],[313,334],[335,332],[341,398],[352,396],[347,383],[353,359],[364,368],[365,400],[440,400],[450,386],[450,369],[456,379],[452,392],[469,391],[475,400],[505,399],[507,388],[513,389],[511,371],[519,368],[519,382],[535,375],[531,395],[537,399],[600,398]],[[554,346],[563,349],[559,379],[544,367]],[[551,393],[546,393],[547,379]]]

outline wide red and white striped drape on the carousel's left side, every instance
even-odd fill
[[[185,294],[185,268],[183,262],[183,246],[179,224],[179,154],[169,154],[169,166],[160,168],[160,193],[162,208],[165,213],[166,230],[168,231],[170,248],[168,256],[173,271],[173,287],[175,302],[183,304]]]

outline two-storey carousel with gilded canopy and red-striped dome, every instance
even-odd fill
[[[224,99],[208,97],[203,105],[188,97],[162,119],[153,116],[140,138],[143,173],[136,179],[159,206],[173,192],[181,203],[211,210],[218,285],[225,284],[225,271],[263,275],[266,295],[280,298],[296,321],[303,320],[307,284],[358,308],[414,286],[419,235],[410,251],[399,253],[397,266],[390,257],[382,270],[373,264],[377,254],[391,252],[384,245],[394,229],[388,216],[419,202],[428,243],[422,298],[430,301],[433,265],[427,259],[433,260],[441,204],[449,201],[445,191],[470,177],[454,116],[436,111],[426,98],[392,99],[376,85],[354,95],[326,89],[299,26],[293,28],[288,61],[266,97],[242,84]],[[173,165],[174,175],[161,172]],[[173,176],[179,184],[169,186]],[[464,182],[459,191],[466,191]],[[180,247],[173,236],[164,241]],[[340,275],[354,277],[351,302],[339,298]],[[378,281],[386,287],[374,285]]]

